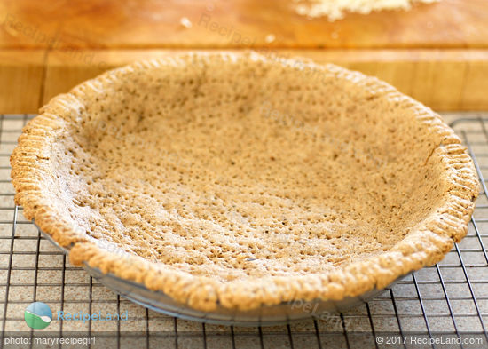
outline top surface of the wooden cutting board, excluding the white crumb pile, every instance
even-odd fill
[[[307,19],[291,0],[4,0],[8,48],[488,47],[488,0],[442,0],[409,12]],[[185,28],[180,20],[193,24]],[[266,36],[276,40],[266,43]]]

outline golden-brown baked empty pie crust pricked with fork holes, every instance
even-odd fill
[[[70,261],[203,311],[340,300],[440,261],[473,163],[374,77],[256,53],[138,62],[52,99],[12,158],[15,202]]]

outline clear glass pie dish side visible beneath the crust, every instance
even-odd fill
[[[50,234],[44,233],[35,224],[34,220],[32,222],[43,237],[51,242],[58,250],[69,255],[69,247],[59,245]],[[413,273],[410,272],[399,276],[394,282],[391,282],[383,289],[374,288],[358,297],[344,297],[340,301],[331,299],[306,301],[298,299],[290,302],[282,302],[279,305],[261,305],[259,308],[251,311],[229,310],[217,305],[216,311],[203,312],[175,301],[161,290],[149,290],[140,282],[122,279],[112,273],[104,274],[100,269],[91,267],[86,262],[83,262],[83,270],[106,286],[107,289],[155,312],[164,313],[183,320],[227,326],[275,326],[307,319],[327,321],[336,317],[340,312],[364,304],[377,297]]]

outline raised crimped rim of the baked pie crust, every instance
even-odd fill
[[[281,65],[285,69],[311,68],[323,74],[326,80],[343,83],[353,91],[364,91],[368,100],[382,100],[400,108],[405,115],[413,115],[416,126],[429,132],[436,143],[431,146],[425,164],[439,169],[441,173],[437,189],[442,190],[440,201],[390,249],[323,273],[262,275],[223,281],[209,275],[178,270],[135,253],[121,252],[112,244],[102,242],[103,239],[89,236],[83,229],[86,226],[83,222],[85,216],[76,213],[83,210],[83,205],[76,202],[71,189],[63,190],[67,184],[62,173],[52,171],[50,160],[54,158],[53,149],[56,149],[57,142],[72,130],[73,124],[83,123],[86,107],[114,81],[138,71],[177,67],[199,60],[215,61],[219,65],[259,61],[261,64]],[[15,202],[24,207],[26,218],[35,220],[43,232],[70,249],[71,263],[75,266],[86,263],[103,273],[143,283],[148,289],[161,290],[178,302],[202,311],[212,311],[216,305],[251,310],[261,305],[277,305],[297,299],[341,300],[374,288],[382,289],[398,277],[444,258],[453,242],[459,242],[467,233],[468,220],[478,194],[476,171],[466,148],[441,117],[428,107],[374,77],[333,65],[320,66],[312,62],[297,65],[291,59],[273,62],[254,52],[239,55],[193,53],[138,62],[82,83],[69,93],[52,99],[41,109],[41,115],[28,123],[12,153],[11,163],[12,183],[17,193]],[[82,184],[80,187],[83,191]]]

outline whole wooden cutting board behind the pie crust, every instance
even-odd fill
[[[106,68],[195,49],[330,61],[377,75],[429,107],[488,109],[488,0],[441,0],[335,22],[307,19],[294,5],[4,0],[0,112],[35,112]]]

